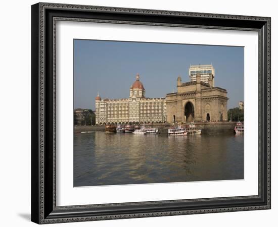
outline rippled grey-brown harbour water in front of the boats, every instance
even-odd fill
[[[74,135],[74,186],[243,178],[243,135]]]

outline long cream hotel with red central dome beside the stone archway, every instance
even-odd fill
[[[139,74],[129,89],[129,98],[96,97],[96,124],[155,124],[166,122],[166,99],[146,98]]]

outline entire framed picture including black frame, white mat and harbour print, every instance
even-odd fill
[[[270,209],[270,18],[31,6],[31,220]]]

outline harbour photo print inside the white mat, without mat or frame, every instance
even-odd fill
[[[73,40],[73,187],[244,179],[244,47]]]

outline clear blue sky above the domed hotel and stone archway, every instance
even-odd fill
[[[211,64],[215,86],[227,90],[228,108],[243,100],[243,47],[74,40],[74,108],[95,110],[95,97],[127,98],[140,74],[146,97],[165,97],[176,79],[190,81],[191,65]]]

